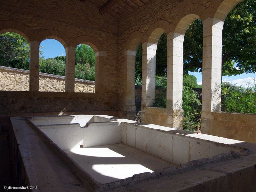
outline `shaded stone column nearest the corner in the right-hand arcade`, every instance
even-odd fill
[[[135,57],[136,51],[125,50],[124,52],[124,117],[135,120],[136,106],[135,94]]]

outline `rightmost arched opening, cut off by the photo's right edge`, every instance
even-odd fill
[[[221,111],[256,113],[255,7],[254,0],[242,1],[223,24]]]

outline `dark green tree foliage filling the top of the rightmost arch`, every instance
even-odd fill
[[[256,1],[247,0],[229,12],[223,27],[222,74],[256,72]],[[239,70],[232,64],[236,63]]]

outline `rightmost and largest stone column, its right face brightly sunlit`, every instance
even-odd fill
[[[207,133],[212,111],[220,111],[221,49],[223,21],[206,18],[203,21],[203,89],[201,130]]]

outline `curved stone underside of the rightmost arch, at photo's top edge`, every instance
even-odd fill
[[[233,9],[238,3],[242,2],[243,0],[224,0],[220,6],[217,8],[217,11],[214,14],[214,18],[220,21],[225,21],[228,13]]]

